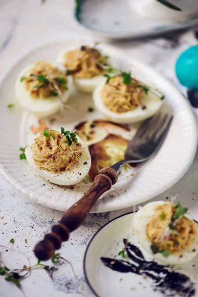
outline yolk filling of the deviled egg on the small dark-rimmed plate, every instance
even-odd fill
[[[154,214],[146,226],[146,233],[148,240],[159,251],[180,253],[195,241],[196,223],[184,216],[182,209],[180,203],[174,205],[168,201],[153,208]]]

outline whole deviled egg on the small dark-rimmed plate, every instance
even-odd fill
[[[197,255],[197,225],[186,211],[180,202],[154,201],[135,213],[135,233],[154,258],[166,264],[183,264]]]

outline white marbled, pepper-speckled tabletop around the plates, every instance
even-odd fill
[[[83,31],[75,24],[72,17],[73,6],[73,0],[47,0],[45,5],[41,5],[40,0],[0,0],[0,77],[2,78],[13,63],[30,49],[52,41],[66,40],[73,34],[82,36]],[[196,43],[193,31],[182,35],[171,34],[169,39],[113,42],[126,54],[151,64],[178,88],[181,86],[174,76],[176,57],[184,49]],[[183,88],[181,90],[184,91]],[[185,176],[155,199],[166,199],[179,193],[181,202],[189,207],[192,217],[198,220],[197,171],[198,154]],[[54,274],[55,278],[66,285],[53,282],[46,271],[37,269],[32,271],[29,278],[22,281],[25,296],[93,296],[83,273],[85,249],[100,226],[130,211],[132,208],[89,215],[83,226],[71,234],[69,242],[64,243],[60,250],[61,255],[72,262],[78,280],[74,278],[66,263],[59,265],[58,271]],[[11,238],[14,238],[14,244],[8,247],[24,252],[26,257],[30,258],[31,264],[37,261],[32,251],[35,243],[54,223],[58,222],[61,215],[59,211],[24,200],[0,178],[0,245],[6,245]],[[9,260],[14,261],[15,254],[16,252],[11,252]],[[25,261],[25,256],[20,254],[18,265],[23,266]],[[15,285],[6,282],[0,276],[0,297],[10,296],[19,297],[22,293]]]

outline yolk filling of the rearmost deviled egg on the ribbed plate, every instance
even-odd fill
[[[65,53],[64,65],[74,78],[84,79],[102,74],[102,65],[107,66],[107,62],[97,49],[82,46]]]

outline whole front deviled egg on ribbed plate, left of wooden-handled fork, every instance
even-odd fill
[[[44,130],[27,146],[26,158],[38,174],[50,183],[62,186],[81,182],[89,173],[88,148],[74,133]]]

